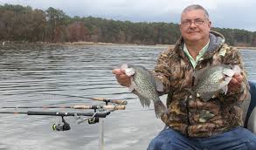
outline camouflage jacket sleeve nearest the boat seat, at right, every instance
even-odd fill
[[[242,103],[246,99],[247,94],[249,94],[249,84],[239,51],[234,47],[228,47],[223,58],[223,63],[225,65],[239,65],[241,74],[244,76],[241,86],[234,90],[228,90],[226,95],[223,95],[223,101],[227,103]],[[228,99],[226,99],[227,97]]]

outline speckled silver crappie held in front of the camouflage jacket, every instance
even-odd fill
[[[228,91],[228,84],[232,76],[240,72],[239,65],[212,65],[203,70],[198,70],[193,73],[195,77],[195,85],[192,87],[194,97],[201,97],[207,101],[218,92]]]

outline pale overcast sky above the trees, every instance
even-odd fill
[[[71,17],[166,23],[179,23],[186,6],[201,4],[214,27],[256,31],[256,0],[0,0],[1,5],[4,3],[41,10],[53,7]]]

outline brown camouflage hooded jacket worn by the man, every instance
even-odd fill
[[[219,93],[206,102],[199,97],[193,99],[185,90],[193,86],[192,73],[219,63],[240,66],[245,77],[241,88]],[[163,81],[164,92],[161,94],[168,94],[169,113],[164,114],[162,120],[172,129],[189,137],[208,137],[243,125],[240,105],[249,90],[246,72],[239,51],[225,44],[225,37],[220,33],[211,31],[209,47],[195,69],[183,52],[181,37],[174,48],[163,51],[154,72]]]

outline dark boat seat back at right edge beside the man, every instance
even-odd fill
[[[256,82],[249,81],[250,96],[243,103],[244,126],[253,133],[256,133]]]

